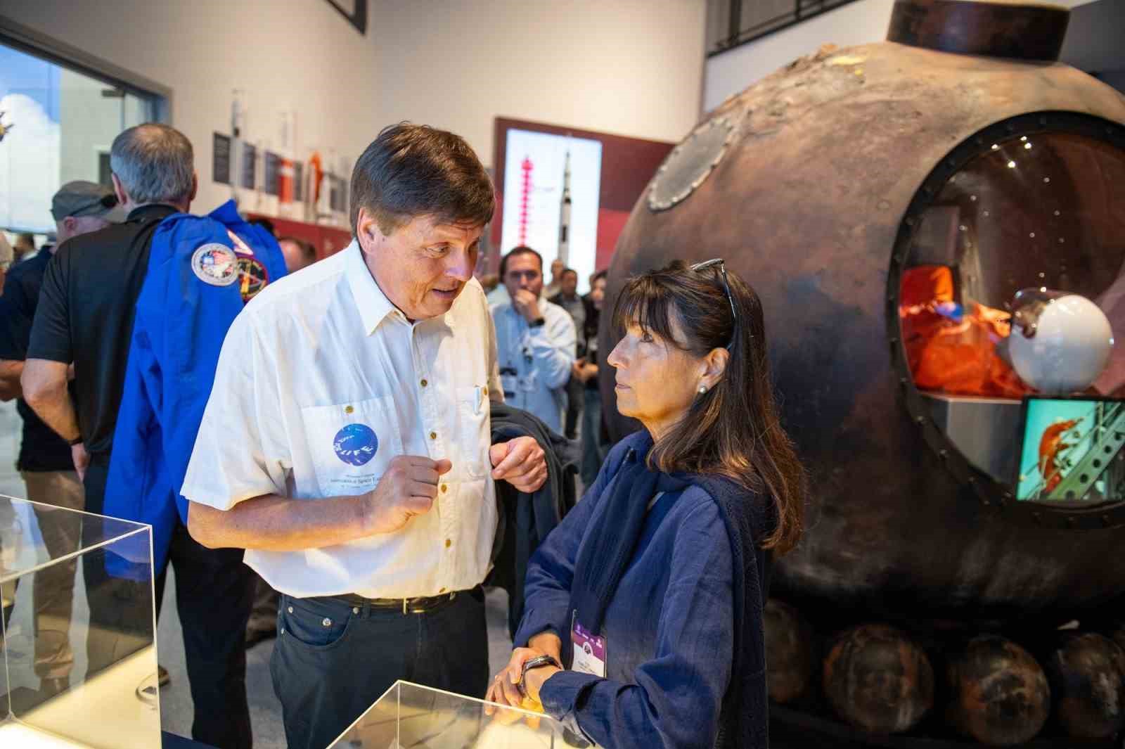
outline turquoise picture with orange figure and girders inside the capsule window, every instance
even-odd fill
[[[1017,499],[1125,498],[1125,401],[1025,399]]]

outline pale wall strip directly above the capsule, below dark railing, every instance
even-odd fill
[[[703,82],[703,109],[765,78],[826,43],[839,47],[886,38],[894,0],[858,0],[755,42],[709,57]]]

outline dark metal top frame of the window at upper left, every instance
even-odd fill
[[[105,81],[153,103],[153,120],[172,124],[172,89],[0,15],[0,44]]]

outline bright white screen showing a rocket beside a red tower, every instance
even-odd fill
[[[590,138],[510,129],[504,172],[501,252],[525,244],[578,272],[588,290],[597,255],[602,144]]]

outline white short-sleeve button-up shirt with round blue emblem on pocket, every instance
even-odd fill
[[[223,342],[182,494],[218,509],[264,494],[316,502],[378,484],[396,455],[447,458],[438,498],[405,527],[303,551],[248,550],[282,593],[433,596],[479,584],[496,534],[489,395],[496,340],[470,280],[411,323],[357,242],[270,283]]]

